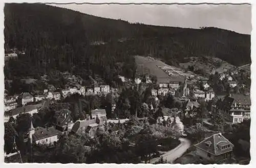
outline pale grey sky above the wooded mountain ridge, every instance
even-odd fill
[[[251,33],[250,5],[53,5],[94,16],[181,28],[216,27]]]

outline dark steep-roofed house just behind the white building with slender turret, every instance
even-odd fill
[[[71,111],[68,109],[61,109],[56,111],[54,116],[56,129],[61,132],[71,131],[74,123],[71,117]]]

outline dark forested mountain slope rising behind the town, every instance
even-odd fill
[[[178,66],[184,57],[212,56],[239,66],[250,63],[250,36],[217,29],[131,24],[44,4],[6,4],[5,48],[26,56],[5,66],[6,78],[56,68],[110,81],[133,77],[133,55],[151,55]],[[122,64],[126,62],[126,64]],[[14,68],[15,67],[15,68]],[[35,74],[33,74],[35,75]]]

